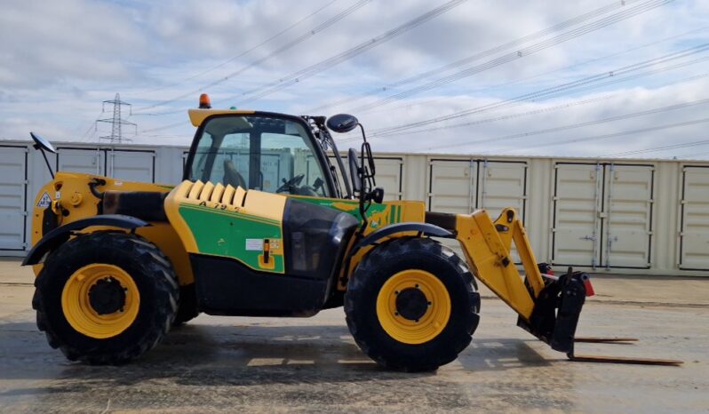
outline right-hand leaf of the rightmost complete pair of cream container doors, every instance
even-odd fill
[[[654,168],[605,165],[601,263],[649,268]]]

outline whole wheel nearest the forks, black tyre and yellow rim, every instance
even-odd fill
[[[480,295],[453,251],[427,238],[375,247],[348,283],[347,326],[357,345],[393,370],[425,371],[456,359],[477,328]]]

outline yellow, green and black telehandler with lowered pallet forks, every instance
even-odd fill
[[[196,132],[178,186],[59,171],[36,195],[23,265],[36,273],[37,327],[69,360],[128,362],[201,312],[306,317],[344,306],[372,360],[435,370],[478,326],[475,279],[532,335],[598,360],[573,352],[588,275],[547,275],[513,209],[493,220],[383,202],[352,115],[212,109],[206,95],[188,113]],[[330,131],[357,127],[347,174]],[[52,145],[32,137],[52,172]],[[458,240],[464,257],[440,238]]]

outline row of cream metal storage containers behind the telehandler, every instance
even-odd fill
[[[182,179],[187,159],[187,147],[57,147],[50,160],[60,170],[165,184]],[[308,172],[316,168],[315,160],[301,158],[290,163],[306,163]],[[709,162],[388,153],[375,158],[386,200],[423,200],[429,211],[485,209],[493,218],[514,207],[538,261],[558,270],[709,275]],[[344,154],[343,161],[347,169]],[[331,162],[337,165],[334,156]],[[276,164],[265,168],[274,171],[269,181],[280,182],[287,163]],[[0,254],[22,255],[28,248],[25,215],[49,179],[45,170],[42,155],[28,142],[0,142]]]

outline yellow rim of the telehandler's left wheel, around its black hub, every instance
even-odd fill
[[[97,283],[107,281],[123,289],[123,306],[114,312],[100,314],[92,307],[90,292]],[[138,286],[131,275],[120,267],[105,263],[96,263],[76,270],[69,276],[64,290],[61,291],[64,317],[72,328],[91,338],[111,338],[128,329],[138,316],[139,306]]]

